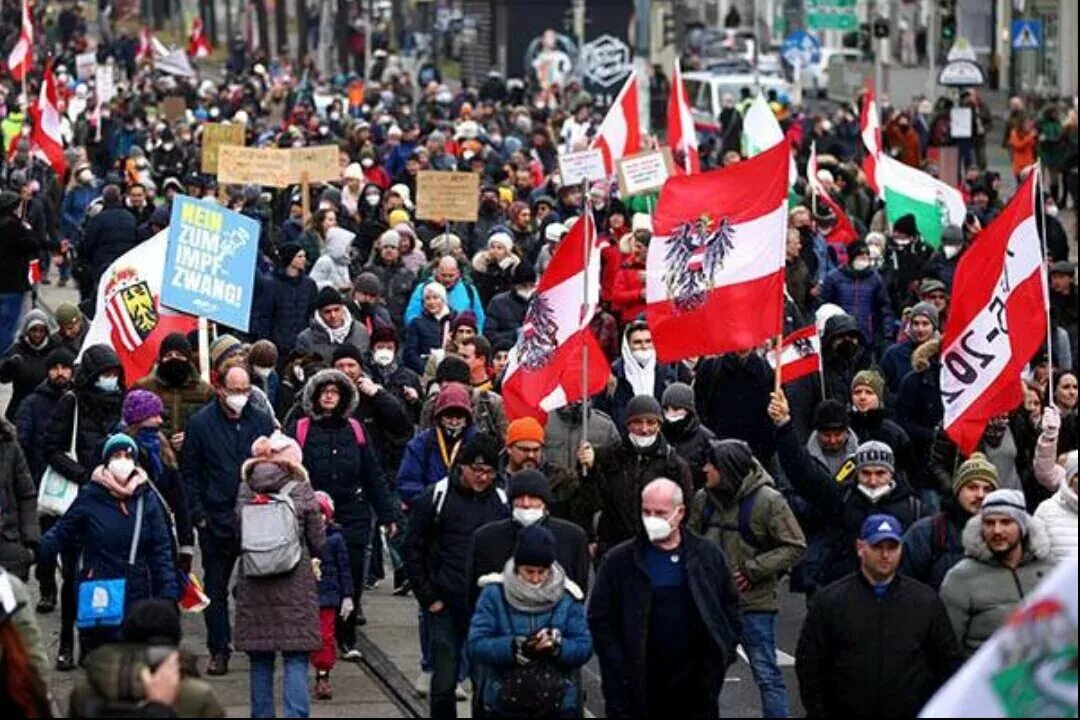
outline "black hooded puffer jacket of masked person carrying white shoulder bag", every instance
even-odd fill
[[[95,382],[105,370],[120,370],[120,389],[113,392],[99,390]],[[91,345],[83,353],[75,376],[75,384],[53,409],[45,431],[45,457],[49,464],[67,479],[80,485],[90,480],[94,467],[100,464],[105,439],[120,422],[123,400],[123,367],[109,345]],[[76,459],[68,457],[71,430],[76,422]]]

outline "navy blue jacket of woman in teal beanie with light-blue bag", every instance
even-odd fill
[[[143,531],[135,568],[126,572],[127,554],[135,532],[135,505],[143,498]],[[127,607],[147,598],[176,599],[180,588],[173,562],[173,540],[161,501],[148,485],[120,501],[97,483],[79,491],[68,512],[41,539],[39,557],[53,558],[63,551],[81,552],[79,580],[127,578]]]

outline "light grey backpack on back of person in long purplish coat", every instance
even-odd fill
[[[278,492],[256,494],[240,510],[240,560],[247,578],[292,572],[303,557],[289,480]]]

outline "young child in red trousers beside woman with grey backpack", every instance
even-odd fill
[[[334,501],[319,490],[315,500],[326,524],[326,545],[318,565],[319,624],[323,631],[323,647],[311,653],[315,668],[315,699],[333,699],[330,670],[334,669],[336,643],[334,621],[340,612],[347,617],[353,610],[352,573],[349,572],[349,551],[340,528],[334,524]],[[349,593],[349,595],[346,595]]]

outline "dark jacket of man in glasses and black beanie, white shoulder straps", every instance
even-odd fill
[[[449,474],[442,511],[429,487],[413,505],[405,535],[405,572],[420,607],[436,600],[464,603],[469,599],[469,558],[473,533],[488,522],[510,516],[495,485],[475,493],[464,487],[457,468]]]

